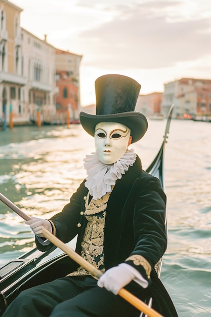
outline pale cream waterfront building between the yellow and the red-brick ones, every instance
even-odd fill
[[[22,88],[29,121],[52,122],[56,115],[55,48],[22,28],[23,74],[27,78]]]

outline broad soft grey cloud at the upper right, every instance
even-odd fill
[[[118,14],[113,20],[79,33],[83,65],[160,68],[208,55],[210,17],[185,19],[169,14],[170,7],[179,5],[148,2],[115,7]]]

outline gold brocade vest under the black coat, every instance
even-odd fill
[[[85,217],[88,220],[85,234],[81,242],[81,257],[94,265],[97,269],[105,272],[104,267],[104,252],[103,252],[103,239],[104,239],[104,226],[106,207],[110,192],[106,193],[102,198],[94,200],[89,203],[90,193],[85,197]],[[75,275],[91,275],[82,266],[79,266],[76,271],[68,274],[67,276]]]

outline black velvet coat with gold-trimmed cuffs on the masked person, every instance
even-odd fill
[[[85,216],[81,216],[80,212],[85,211],[84,197],[87,194],[88,189],[85,187],[84,180],[72,195],[70,203],[63,208],[61,213],[51,218],[56,226],[56,236],[64,243],[69,242],[78,234],[76,252],[79,254],[81,240],[87,225],[87,219]],[[125,259],[131,255],[143,256],[151,267],[154,267],[163,256],[167,245],[164,224],[165,206],[166,196],[160,181],[142,170],[141,161],[137,157],[134,165],[122,175],[121,179],[116,181],[108,200],[104,228],[104,265],[106,269],[125,262]],[[39,250],[48,249],[48,246],[40,245],[37,240],[36,244]],[[146,278],[145,270],[141,265],[135,265],[133,261],[125,263],[134,266]],[[150,296],[154,297],[155,292],[156,297],[158,296],[158,305],[166,306],[168,294],[154,270],[152,270],[150,280],[148,288],[151,290]],[[163,295],[160,295],[162,291]],[[137,292],[134,293],[137,295]],[[167,302],[171,302],[171,299],[167,298]],[[165,312],[156,305],[155,309]],[[171,314],[168,310],[165,313],[168,313],[169,316],[177,315],[176,312]]]

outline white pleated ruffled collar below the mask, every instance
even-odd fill
[[[111,192],[116,180],[120,179],[122,174],[134,164],[136,156],[134,149],[128,149],[120,160],[107,165],[98,159],[96,153],[86,155],[83,160],[88,175],[85,186],[89,189],[94,200],[100,199],[107,192]]]

